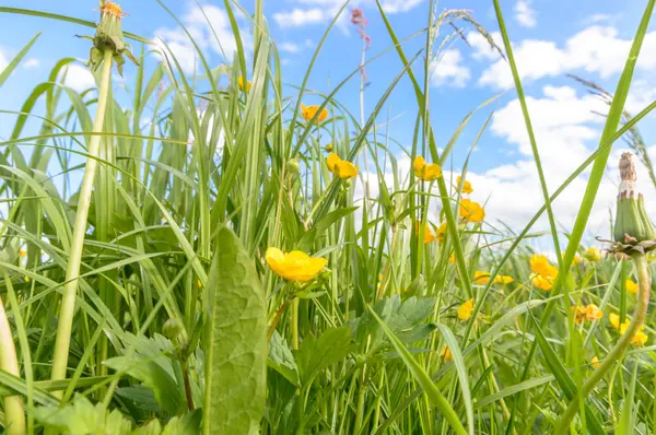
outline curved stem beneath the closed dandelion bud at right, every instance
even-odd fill
[[[649,273],[649,264],[647,263],[646,256],[640,255],[634,257],[633,260],[635,261],[635,268],[637,269],[637,281],[640,286],[637,299],[635,302],[635,308],[633,310],[633,319],[631,320],[631,324],[626,328],[624,334],[620,337],[620,340],[617,342],[617,344],[610,350],[610,352],[608,352],[608,355],[606,355],[601,362],[601,365],[599,365],[599,367],[593,372],[590,377],[583,384],[579,392],[572,398],[567,410],[557,426],[557,434],[564,434],[566,432],[566,427],[570,425],[576,415],[576,412],[578,411],[578,405],[581,402],[579,397],[587,397],[595,385],[604,377],[604,375],[606,375],[608,371],[612,368],[614,363],[622,358],[626,348],[629,348],[629,344],[631,343],[631,339],[645,321],[652,292],[652,275]]]

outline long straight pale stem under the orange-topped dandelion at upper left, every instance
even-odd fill
[[[98,92],[98,105],[96,108],[95,120],[93,122],[93,132],[89,142],[89,157],[84,168],[84,177],[80,187],[80,198],[78,200],[78,212],[73,225],[73,239],[69,252],[68,267],[66,269],[66,284],[63,286],[63,296],[61,298],[61,308],[59,310],[59,325],[57,327],[57,339],[55,341],[55,356],[52,358],[52,380],[66,378],[68,366],[69,348],[71,343],[71,331],[73,327],[73,314],[75,310],[75,296],[78,293],[78,279],[80,278],[80,266],[82,262],[82,250],[84,248],[84,236],[86,234],[86,217],[91,204],[91,192],[97,165],[97,156],[102,137],[97,133],[103,132],[105,121],[105,109],[107,107],[107,95],[112,83],[112,50],[105,50],[103,60],[103,72],[101,75],[101,87]],[[61,391],[54,391],[54,395],[61,398]]]

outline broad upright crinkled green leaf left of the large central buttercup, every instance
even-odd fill
[[[256,434],[265,411],[267,303],[253,257],[221,227],[208,281],[203,433]]]

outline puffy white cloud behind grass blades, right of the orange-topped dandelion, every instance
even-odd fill
[[[196,44],[203,51],[203,56],[207,56],[208,50],[211,50],[218,56],[232,59],[237,50],[237,43],[227,13],[223,9],[208,4],[203,5],[202,10],[195,7],[183,17],[183,22]],[[211,23],[211,26],[209,23]],[[247,28],[239,28],[239,35],[244,48],[250,49],[253,47],[250,32]],[[155,37],[166,42],[176,60],[180,63],[180,68],[186,73],[198,71],[201,68],[196,48],[181,28],[161,27],[155,31]],[[159,45],[160,49],[168,55],[164,44],[160,43]]]

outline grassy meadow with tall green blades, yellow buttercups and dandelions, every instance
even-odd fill
[[[402,68],[371,114],[339,101],[349,81],[365,92],[375,61],[364,56],[365,17],[348,2],[362,62],[328,94],[307,82],[337,17],[290,85],[263,0],[250,13],[225,0],[234,61],[210,64],[196,46],[195,77],[166,43],[124,33],[129,11],[109,0],[97,23],[0,7],[2,19],[91,35],[96,81],[82,93],[62,85],[67,58],[22,106],[0,101],[13,120],[0,138],[4,433],[656,434],[656,235],[639,195],[656,178],[634,172],[640,163],[654,174],[637,128],[656,103],[635,116],[624,107],[636,59],[652,55],[641,47],[655,2],[613,92],[581,79],[608,103],[604,131],[552,191],[497,0],[502,46],[468,11],[438,12],[431,0],[412,36],[419,52],[407,52],[378,3],[367,20],[383,23],[384,51]],[[243,13],[253,50],[241,44]],[[443,172],[456,148],[476,146],[462,131],[488,127],[470,120],[491,101],[436,145],[426,78],[464,26],[513,72],[543,195],[525,227],[485,220],[485,198],[467,180],[470,151],[459,174]],[[0,92],[37,32],[0,71]],[[114,95],[124,67],[136,71],[131,105]],[[385,127],[401,80],[415,97],[408,149]],[[595,240],[586,224],[622,140],[633,155],[622,155],[617,210]],[[551,203],[586,171],[563,233]],[[550,230],[538,234],[544,217]]]

